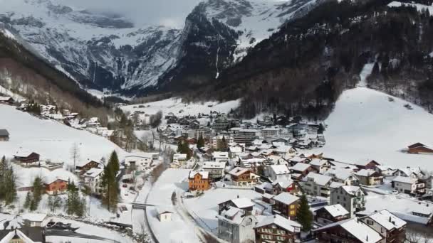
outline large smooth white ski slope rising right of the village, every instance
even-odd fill
[[[365,87],[343,92],[325,121],[325,146],[310,152],[324,152],[337,161],[374,159],[385,165],[433,171],[432,155],[401,151],[417,142],[433,144],[433,115],[396,97],[390,102],[389,97]],[[405,104],[413,109],[405,108]]]

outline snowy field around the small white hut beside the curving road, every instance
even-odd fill
[[[189,170],[167,169],[150,190],[148,204],[174,212],[172,221],[160,222],[156,207],[147,207],[147,219],[160,242],[199,242],[194,224],[185,221],[172,205],[172,193],[188,189],[188,174]]]

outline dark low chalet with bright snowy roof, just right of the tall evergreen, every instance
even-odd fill
[[[315,210],[314,217],[315,221],[320,225],[329,225],[333,222],[347,220],[350,217],[350,213],[342,205],[335,204]]]

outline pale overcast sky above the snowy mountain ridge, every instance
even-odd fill
[[[14,1],[14,0],[11,0]],[[66,6],[122,13],[139,25],[182,28],[187,15],[202,0],[56,0]]]

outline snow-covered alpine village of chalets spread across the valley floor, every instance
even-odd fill
[[[28,106],[17,109],[30,112]],[[39,107],[38,116],[63,126],[108,140],[113,135],[96,118],[82,120],[54,106]],[[115,227],[138,227],[132,217],[141,217],[146,240],[154,242],[419,242],[431,237],[432,175],[417,166],[340,161],[313,153],[326,144],[321,122],[281,114],[245,121],[231,109],[215,111],[207,105],[206,113],[167,112],[152,129],[154,114],[140,108],[127,112],[135,120],[135,139],[132,150],[118,158],[120,203],[115,216],[105,220]],[[13,136],[0,127],[0,143]],[[432,148],[414,142],[401,153],[433,155]],[[146,151],[140,151],[140,144]],[[5,156],[18,171],[43,168],[48,197],[67,194],[71,183],[96,201],[107,193],[103,174],[108,161],[77,158],[71,168],[40,153],[21,147]],[[16,189],[22,195],[34,190],[31,180]],[[89,212],[105,210],[90,208],[90,202]],[[51,214],[28,212],[20,218],[42,229]]]

